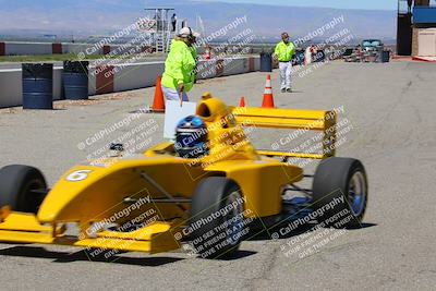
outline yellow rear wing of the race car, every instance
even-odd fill
[[[232,108],[232,114],[239,125],[265,129],[289,129],[294,132],[289,136],[295,138],[307,132],[317,131],[319,134],[312,138],[314,143],[301,151],[257,150],[259,155],[270,157],[325,159],[336,155],[336,122],[337,113],[332,111],[275,109],[275,108]],[[316,144],[316,146],[315,146]],[[271,145],[271,148],[274,146]]]

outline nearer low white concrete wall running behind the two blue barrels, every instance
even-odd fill
[[[51,49],[51,47],[50,47]],[[258,57],[223,58],[201,60],[198,78],[244,74],[258,71]],[[89,96],[153,87],[156,78],[164,73],[165,62],[138,62],[114,65],[89,65]],[[63,99],[62,66],[53,68],[53,100]],[[22,105],[22,70],[0,70],[0,108]]]

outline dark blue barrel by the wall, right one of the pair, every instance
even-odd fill
[[[88,62],[64,61],[63,62],[63,95],[65,99],[88,99]]]

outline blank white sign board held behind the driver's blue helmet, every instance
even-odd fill
[[[185,117],[194,116],[196,107],[196,102],[183,102],[181,107],[179,100],[167,100],[165,102],[164,138],[174,140],[177,124]]]

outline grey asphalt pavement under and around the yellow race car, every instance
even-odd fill
[[[65,246],[0,244],[1,289],[77,290],[435,290],[436,288],[436,66],[427,63],[329,63],[294,77],[294,93],[278,93],[280,108],[343,106],[352,130],[338,156],[359,158],[370,180],[370,202],[361,229],[334,231],[317,253],[283,250],[298,234],[243,242],[237,257],[206,260],[184,252],[122,254],[112,263],[89,260]],[[259,106],[265,73],[202,81],[190,94],[209,90],[237,105],[245,96]],[[57,102],[59,110],[0,110],[0,166],[40,168],[52,185],[73,165],[137,123],[156,120],[150,144],[162,138],[161,114],[141,114],[130,126],[92,146],[77,144],[146,104],[154,88]],[[263,147],[280,138],[264,133]],[[276,140],[275,140],[276,138]],[[313,168],[313,167],[312,167]],[[313,170],[308,167],[308,171]],[[319,230],[322,231],[322,230]]]

